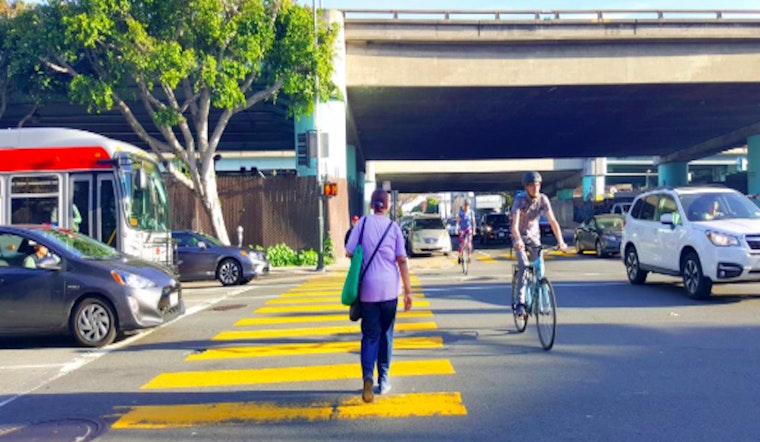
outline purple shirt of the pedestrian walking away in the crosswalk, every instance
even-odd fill
[[[359,296],[364,302],[389,301],[398,298],[401,292],[401,275],[396,259],[399,256],[406,257],[404,236],[401,234],[401,228],[398,224],[391,221],[390,218],[385,215],[373,214],[362,217],[351,230],[351,236],[348,237],[346,252],[353,254],[359,242],[362,225],[364,225],[364,237],[362,238],[364,264],[362,268],[366,268],[367,262],[369,262],[378,242],[380,242],[380,237],[383,236],[388,227],[388,223],[393,223],[393,225],[388,234],[385,235],[375,259],[367,268],[361,282]]]

